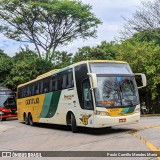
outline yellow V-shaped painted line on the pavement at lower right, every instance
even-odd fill
[[[151,151],[153,152],[160,152],[160,149],[155,147],[151,142],[149,142],[147,139],[139,136],[136,134],[137,131],[143,130],[143,129],[150,129],[150,128],[160,128],[160,126],[144,126],[139,128],[134,128],[132,131],[128,131],[127,133],[131,134],[135,138],[139,139],[141,142],[143,142]],[[158,160],[160,160],[160,156],[157,157]]]

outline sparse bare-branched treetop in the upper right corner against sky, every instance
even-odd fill
[[[160,0],[143,1],[141,7],[137,8],[136,12],[133,13],[132,18],[124,18],[124,30],[121,31],[122,38],[128,38],[137,32],[146,31],[160,40],[159,10]]]

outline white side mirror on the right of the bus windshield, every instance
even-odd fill
[[[134,73],[134,75],[135,75],[138,89],[146,87],[147,85],[146,75],[143,73]]]

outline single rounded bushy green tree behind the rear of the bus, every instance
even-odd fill
[[[28,48],[21,48],[20,52],[12,58],[12,63],[14,65],[5,78],[6,86],[13,90],[16,90],[19,84],[26,83],[54,69],[51,62],[39,58],[34,51]]]

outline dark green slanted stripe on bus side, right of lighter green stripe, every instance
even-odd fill
[[[58,103],[59,103],[59,99],[60,99],[60,95],[61,95],[61,91],[53,92],[52,98],[51,98],[51,101],[50,101],[50,107],[49,107],[48,113],[47,113],[45,118],[51,118],[56,113]]]

